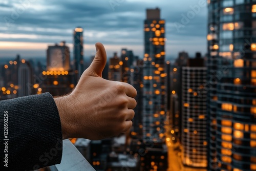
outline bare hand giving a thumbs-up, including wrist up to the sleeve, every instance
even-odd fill
[[[83,72],[73,92],[54,98],[63,139],[99,140],[126,132],[132,126],[136,90],[127,83],[103,79],[104,46],[96,44],[91,66]]]

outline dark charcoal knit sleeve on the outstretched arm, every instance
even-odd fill
[[[50,93],[0,101],[0,117],[1,170],[35,170],[60,163],[61,124]]]

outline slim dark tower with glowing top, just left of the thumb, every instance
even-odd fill
[[[83,66],[83,29],[77,27],[74,30],[74,71],[76,74],[76,79],[80,78],[84,71]]]

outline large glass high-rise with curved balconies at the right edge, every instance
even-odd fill
[[[256,2],[208,10],[208,170],[256,170]]]

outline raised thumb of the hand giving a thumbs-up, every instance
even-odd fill
[[[99,76],[102,77],[102,71],[106,65],[106,51],[104,46],[97,42],[95,44],[96,47],[96,55],[88,68],[90,72],[88,72],[89,76]]]

